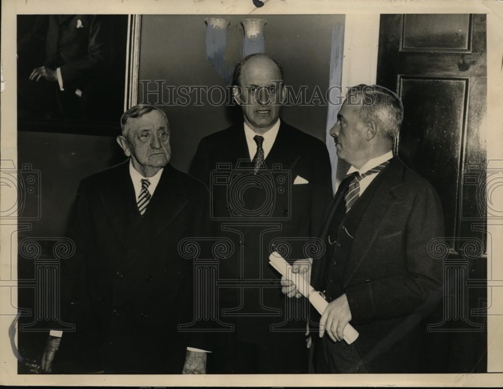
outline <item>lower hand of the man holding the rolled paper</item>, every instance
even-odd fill
[[[351,310],[346,293],[330,302],[319,320],[319,337],[326,333],[334,342],[344,339],[344,328],[351,322]]]

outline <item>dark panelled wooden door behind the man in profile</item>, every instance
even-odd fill
[[[446,278],[437,319],[430,318],[430,324],[440,323],[425,334],[427,371],[486,370],[485,318],[473,312],[486,304],[486,204],[477,185],[486,166],[485,26],[479,14],[380,20],[377,84],[396,92],[404,106],[395,153],[439,193],[449,252],[445,269],[456,273],[454,281]],[[472,252],[470,244],[477,246]]]

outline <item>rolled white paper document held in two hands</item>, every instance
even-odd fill
[[[304,274],[293,273],[292,265],[285,261],[285,259],[276,251],[269,256],[269,263],[276,269],[276,271],[278,271],[278,273],[284,276],[287,280],[292,281],[300,294],[307,297],[309,302],[316,308],[319,314],[323,315],[328,302],[326,302],[319,292],[314,290],[314,288],[309,284],[309,280],[306,280],[304,277]],[[346,343],[353,343],[358,338],[358,335],[360,334],[351,324],[344,327],[343,337]]]

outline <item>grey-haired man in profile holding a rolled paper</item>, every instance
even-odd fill
[[[319,373],[421,371],[417,324],[442,291],[442,261],[429,243],[444,227],[433,187],[391,151],[402,117],[394,93],[361,85],[330,131],[352,166],[321,232],[328,249],[312,266],[311,283],[329,302],[314,345]],[[298,293],[282,282],[289,296]],[[351,345],[342,341],[348,323],[360,334]]]

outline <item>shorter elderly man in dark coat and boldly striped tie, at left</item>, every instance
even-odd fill
[[[170,165],[162,111],[138,105],[121,124],[117,142],[129,158],[78,188],[76,253],[62,269],[63,320],[76,328],[52,332],[42,369],[51,370],[61,343],[63,372],[203,373],[205,338],[178,330],[193,306],[193,264],[178,246],[206,233],[208,191]]]

